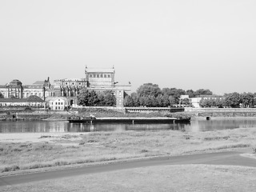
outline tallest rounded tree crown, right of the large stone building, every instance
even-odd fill
[[[139,97],[146,97],[146,96],[154,96],[158,97],[158,94],[161,93],[161,89],[157,84],[153,83],[144,83],[142,86],[138,87],[137,94]]]

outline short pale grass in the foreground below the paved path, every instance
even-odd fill
[[[241,166],[153,166],[2,186],[1,191],[254,191],[256,169]]]

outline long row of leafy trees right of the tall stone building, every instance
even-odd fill
[[[189,98],[180,98],[181,95],[189,95]],[[124,106],[147,106],[147,107],[174,107],[191,106],[190,98],[202,97],[199,102],[201,107],[230,107],[252,108],[256,106],[256,93],[237,92],[216,96],[211,90],[182,90],[177,88],[160,89],[157,84],[145,83],[131,95],[126,95]]]

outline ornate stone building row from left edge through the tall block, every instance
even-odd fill
[[[75,106],[77,104],[77,95],[79,90],[87,88],[88,90],[106,91],[110,90],[115,95],[117,107],[123,107],[123,99],[126,94],[131,93],[131,85],[121,85],[115,82],[115,70],[109,69],[85,69],[85,78],[62,78],[50,83],[50,78],[45,81],[34,82],[32,85],[22,85],[18,79],[14,79],[5,86],[0,86],[0,93],[4,98],[29,98],[36,95],[42,98],[48,104],[55,103],[56,98],[65,100],[66,105]],[[64,103],[64,102],[62,102]],[[53,109],[62,110],[62,107],[54,106]]]

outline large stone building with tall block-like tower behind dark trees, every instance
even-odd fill
[[[70,105],[76,105],[76,96],[79,90],[86,87],[88,90],[106,91],[110,90],[115,95],[117,107],[123,107],[123,99],[126,94],[131,93],[131,85],[128,82],[126,85],[121,85],[115,82],[115,70],[108,69],[85,69],[85,78],[63,78],[54,80],[53,89],[50,97],[69,98]],[[51,99],[52,100],[52,99]]]

